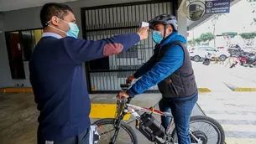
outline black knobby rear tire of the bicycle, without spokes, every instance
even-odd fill
[[[217,128],[217,130],[220,132],[220,137],[218,137],[217,144],[225,143],[225,133],[224,133],[224,130],[223,130],[221,124],[218,121],[216,121],[212,117],[208,117],[208,116],[191,116],[190,123],[192,121],[208,121],[208,122],[212,123],[212,125],[215,126],[214,128],[215,129]],[[175,134],[176,134],[176,131],[174,129],[171,132],[171,137],[174,138]]]

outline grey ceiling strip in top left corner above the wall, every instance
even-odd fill
[[[43,6],[44,3],[65,3],[77,0],[0,0],[0,12]]]

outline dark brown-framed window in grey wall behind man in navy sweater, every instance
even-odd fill
[[[29,61],[35,45],[42,37],[42,29],[6,32],[8,59],[13,79],[26,79],[24,61]]]

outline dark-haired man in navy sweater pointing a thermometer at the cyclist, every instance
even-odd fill
[[[30,82],[38,104],[39,144],[88,144],[91,102],[82,64],[128,50],[148,38],[149,28],[110,39],[77,39],[70,7],[47,3],[40,12],[43,38],[29,61]]]

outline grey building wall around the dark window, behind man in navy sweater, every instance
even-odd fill
[[[146,1],[146,0],[139,0]],[[81,8],[94,7],[100,5],[108,4],[118,4],[118,3],[135,3],[138,0],[81,0],[72,3],[65,3],[73,8],[76,15],[77,25],[80,28],[79,37],[82,38],[81,30]],[[39,20],[39,12],[41,7],[36,8],[25,8],[21,10],[9,11],[3,14],[0,14],[0,87],[13,87],[17,84],[24,86],[31,86],[29,82],[29,69],[28,62],[24,62],[24,69],[26,73],[26,80],[12,80],[11,72],[8,64],[8,52],[5,42],[4,32],[30,29],[30,28],[41,28]],[[184,20],[180,24],[179,28],[186,28]],[[2,31],[2,32],[1,32]],[[185,29],[186,31],[186,29]],[[186,35],[186,33],[181,33]]]

